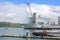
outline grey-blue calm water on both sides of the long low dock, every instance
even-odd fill
[[[23,28],[0,28],[0,35],[3,34],[22,34],[26,35],[26,30]],[[0,40],[27,40],[26,38],[13,38],[13,37],[0,37]],[[43,39],[31,39],[28,40],[43,40]]]

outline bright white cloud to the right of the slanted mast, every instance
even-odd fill
[[[51,21],[55,20],[55,22],[57,22],[58,16],[60,16],[60,6],[31,4],[30,7],[32,13],[36,12],[37,15],[44,18],[50,18]]]

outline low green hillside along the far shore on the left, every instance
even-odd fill
[[[11,22],[0,22],[0,27],[22,27],[25,24],[11,23]]]

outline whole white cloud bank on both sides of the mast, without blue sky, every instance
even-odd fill
[[[41,15],[41,17],[50,18],[52,21],[57,21],[58,16],[60,16],[60,6],[31,3],[30,9],[32,13],[37,13],[37,17]],[[25,23],[27,17],[30,16],[31,13],[26,4],[0,3],[0,21]]]

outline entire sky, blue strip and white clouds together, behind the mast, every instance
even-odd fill
[[[27,23],[31,12],[57,22],[60,16],[60,0],[0,0],[0,21]]]

